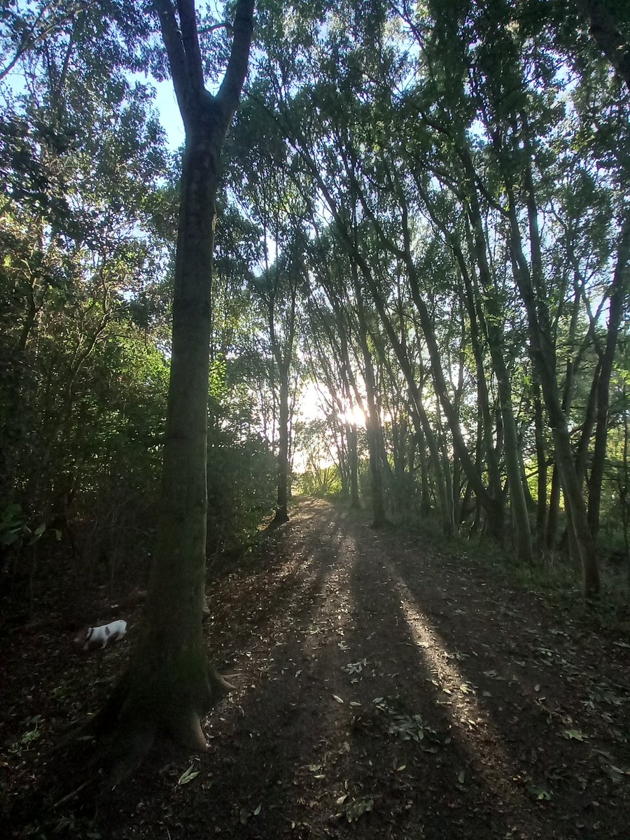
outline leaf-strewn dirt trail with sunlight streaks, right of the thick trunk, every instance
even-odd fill
[[[216,592],[223,835],[630,837],[627,647],[323,502],[276,549]]]

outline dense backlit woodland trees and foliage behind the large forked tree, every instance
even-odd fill
[[[286,512],[292,464],[376,525],[570,556],[587,595],[627,559],[630,94],[592,6],[260,4],[223,154],[208,556],[274,494]],[[179,155],[142,73],[164,75],[150,10],[128,13],[0,22],[5,569],[38,530],[84,572],[150,552]]]

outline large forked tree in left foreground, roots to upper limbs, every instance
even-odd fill
[[[173,289],[171,378],[160,521],[143,625],[129,669],[97,716],[110,734],[114,782],[165,734],[202,749],[201,718],[228,690],[202,643],[213,228],[223,139],[247,73],[254,0],[239,0],[216,95],[204,84],[195,3],[155,0],[186,131]]]

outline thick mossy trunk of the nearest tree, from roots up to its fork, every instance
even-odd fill
[[[201,718],[221,685],[208,669],[202,642],[209,280],[219,149],[218,138],[212,136],[186,142],[160,515],[149,597],[129,671],[97,718],[97,727],[115,725],[132,747],[137,732],[144,733],[143,748],[146,738],[161,732],[187,748],[204,748]],[[134,761],[133,753],[129,760]],[[117,769],[114,778],[129,769],[133,767]]]

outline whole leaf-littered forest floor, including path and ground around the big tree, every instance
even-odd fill
[[[322,501],[219,578],[212,608],[236,690],[208,753],[154,754],[56,806],[81,769],[50,746],[106,694],[133,623],[89,657],[54,622],[5,633],[3,837],[629,840],[627,638]]]

